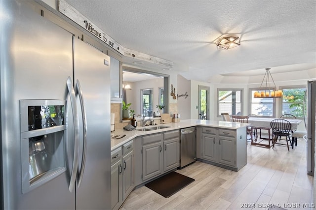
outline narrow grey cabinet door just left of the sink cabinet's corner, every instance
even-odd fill
[[[133,151],[123,157],[123,200],[133,189]]]

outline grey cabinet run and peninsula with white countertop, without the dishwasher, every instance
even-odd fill
[[[238,171],[246,165],[249,123],[181,120],[111,134],[112,210],[129,193],[180,167],[180,129],[196,127],[197,160]],[[192,150],[195,150],[192,148]]]

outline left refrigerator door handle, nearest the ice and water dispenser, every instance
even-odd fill
[[[75,181],[77,177],[77,170],[78,170],[78,150],[79,150],[79,118],[78,118],[78,111],[76,105],[76,95],[75,90],[73,88],[73,82],[70,77],[67,79],[67,88],[70,96],[70,102],[72,107],[72,113],[74,118],[74,160],[73,160],[73,167],[70,176],[69,182],[69,191],[72,192],[75,188]]]

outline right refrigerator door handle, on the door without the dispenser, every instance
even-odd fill
[[[83,95],[82,95],[82,90],[81,90],[79,80],[76,81],[76,90],[78,92],[79,100],[80,100],[80,107],[81,107],[81,113],[82,113],[82,126],[83,126],[82,159],[81,159],[80,173],[77,180],[78,187],[79,187],[83,178],[83,173],[84,173],[84,166],[85,166],[85,159],[86,159],[86,146],[87,146],[87,118],[86,118],[84,100],[83,100]]]

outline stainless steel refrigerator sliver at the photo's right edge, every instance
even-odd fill
[[[307,173],[315,173],[316,80],[307,82]]]

